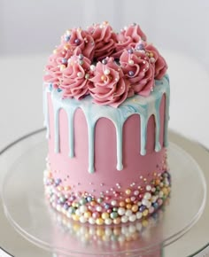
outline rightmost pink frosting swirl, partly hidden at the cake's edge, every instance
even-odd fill
[[[151,62],[155,65],[155,79],[161,80],[167,70],[165,58],[159,54],[159,51],[152,44],[145,43],[144,49],[147,55],[149,54]]]

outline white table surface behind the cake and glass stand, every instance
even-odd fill
[[[171,81],[169,127],[209,148],[209,73],[194,58],[161,52]],[[43,66],[48,55],[0,56],[0,149],[43,127]]]

